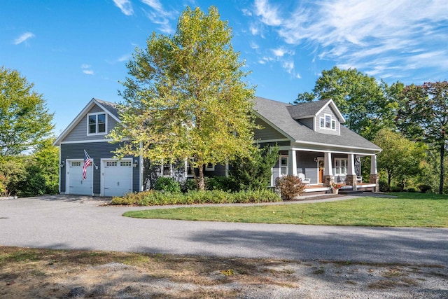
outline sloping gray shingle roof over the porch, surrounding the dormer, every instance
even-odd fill
[[[363,148],[366,151],[373,152],[381,151],[381,148],[342,124],[340,125],[340,135],[315,132],[300,123],[300,121],[294,120],[288,111],[288,106],[290,104],[257,97],[254,109],[269,125],[272,125],[276,130],[286,134],[286,137],[297,143],[337,146],[339,148]],[[298,108],[300,108],[300,105],[298,105]]]

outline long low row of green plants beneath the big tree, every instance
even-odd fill
[[[222,204],[222,203],[251,203],[278,202],[279,195],[269,190],[240,191],[236,193],[223,190],[192,190],[188,193],[170,193],[156,190],[140,193],[129,193],[123,197],[113,197],[111,204],[125,204],[137,206],[154,206],[167,204]]]

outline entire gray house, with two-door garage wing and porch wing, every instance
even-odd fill
[[[331,99],[290,105],[255,99],[255,140],[260,146],[278,145],[279,161],[272,168],[276,177],[304,174],[308,192],[325,192],[330,182],[346,188],[377,188],[376,154],[381,148],[342,125],[344,117]],[[107,134],[120,124],[116,104],[92,99],[55,140],[59,146],[59,193],[117,196],[152,188],[159,176],[188,179],[188,165],[151,165],[142,157],[114,158],[121,143],[111,143]],[[125,141],[123,141],[125,142]],[[372,157],[370,181],[359,183],[360,157]],[[84,167],[85,157],[90,165]],[[229,165],[207,165],[206,176],[224,176]],[[83,170],[85,168],[85,173]]]

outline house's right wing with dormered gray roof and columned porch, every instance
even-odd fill
[[[377,153],[381,148],[342,125],[344,116],[332,99],[297,105],[257,97],[255,140],[260,146],[277,144],[280,158],[272,168],[276,177],[304,174],[313,188],[327,191],[330,183],[350,190],[377,190]],[[360,181],[360,158],[370,156],[370,179]]]

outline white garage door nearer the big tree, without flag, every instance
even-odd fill
[[[102,176],[103,196],[132,192],[132,159],[102,160]]]

